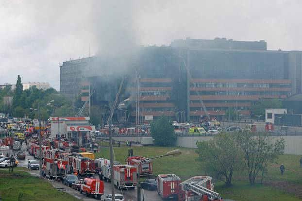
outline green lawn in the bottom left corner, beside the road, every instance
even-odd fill
[[[56,190],[47,181],[18,171],[18,168],[14,173],[0,169],[0,197],[2,201],[78,201]]]

